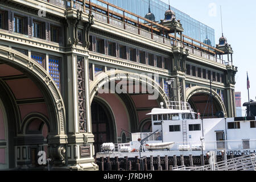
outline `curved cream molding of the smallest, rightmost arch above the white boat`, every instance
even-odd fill
[[[187,91],[186,91],[187,102],[188,102],[189,98],[191,98],[196,93],[210,94],[210,88],[203,87],[203,86],[193,86],[192,88],[187,89]],[[226,107],[225,107],[224,102],[222,101],[221,97],[214,90],[212,90],[212,95],[214,96],[214,98],[216,99],[218,104],[220,104],[221,109],[224,112],[224,117],[227,117]]]

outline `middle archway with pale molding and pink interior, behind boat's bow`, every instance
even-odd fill
[[[90,96],[96,153],[100,144],[104,143],[97,130],[99,126],[96,125],[96,116],[104,115],[101,114],[104,109],[107,116],[110,113],[110,119],[105,121],[113,126],[108,131],[109,136],[113,134],[109,142],[123,143],[131,140],[130,133],[151,131],[151,119],[146,114],[150,113],[152,108],[160,107],[160,102],[167,103],[164,90],[155,80],[146,75],[119,70],[98,74],[94,81],[90,82]],[[101,107],[97,106],[96,102]],[[147,123],[144,123],[145,119]],[[104,139],[108,141],[109,138]]]

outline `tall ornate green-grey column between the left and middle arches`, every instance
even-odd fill
[[[94,135],[89,94],[89,31],[94,23],[81,11],[66,11],[65,102],[68,120],[68,167],[72,170],[97,170],[94,163]],[[77,44],[77,27],[82,28],[82,44]]]

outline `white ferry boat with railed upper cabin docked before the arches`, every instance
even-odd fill
[[[224,150],[227,155],[256,153],[255,117],[201,119],[187,102],[173,101],[168,108],[154,108],[148,115],[152,132],[131,133],[122,156],[138,156],[138,152],[143,156],[205,155],[209,151],[221,155]],[[119,147],[113,155],[118,156],[123,144],[115,145]],[[96,156],[104,156],[104,152]]]

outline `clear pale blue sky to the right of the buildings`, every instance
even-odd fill
[[[162,0],[168,4],[168,0]],[[254,0],[171,0],[171,6],[214,28],[216,44],[221,36],[221,11],[224,36],[231,44],[233,65],[238,67],[236,92],[241,92],[242,104],[248,101],[246,72],[250,80],[250,98],[256,101],[256,1]],[[182,22],[181,22],[182,23]]]

